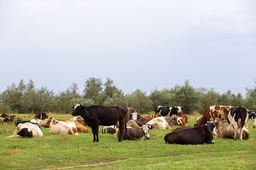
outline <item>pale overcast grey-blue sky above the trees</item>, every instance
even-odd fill
[[[125,94],[254,88],[255,0],[0,0],[0,92],[109,77]]]

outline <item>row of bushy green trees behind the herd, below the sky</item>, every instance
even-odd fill
[[[90,77],[79,93],[76,83],[72,83],[65,91],[55,94],[46,87],[35,88],[32,80],[26,84],[23,79],[17,84],[12,83],[7,89],[0,92],[0,111],[5,113],[71,113],[74,103],[85,106],[124,104],[132,107],[138,113],[149,113],[154,106],[182,106],[184,114],[198,112],[203,114],[204,109],[213,105],[244,106],[250,111],[256,111],[256,80],[254,88],[246,88],[246,95],[233,94],[230,90],[220,94],[213,88],[194,88],[189,80],[183,85],[153,89],[150,95],[137,89],[132,93],[124,94],[117,88],[114,81],[106,77],[103,83],[101,78]]]

